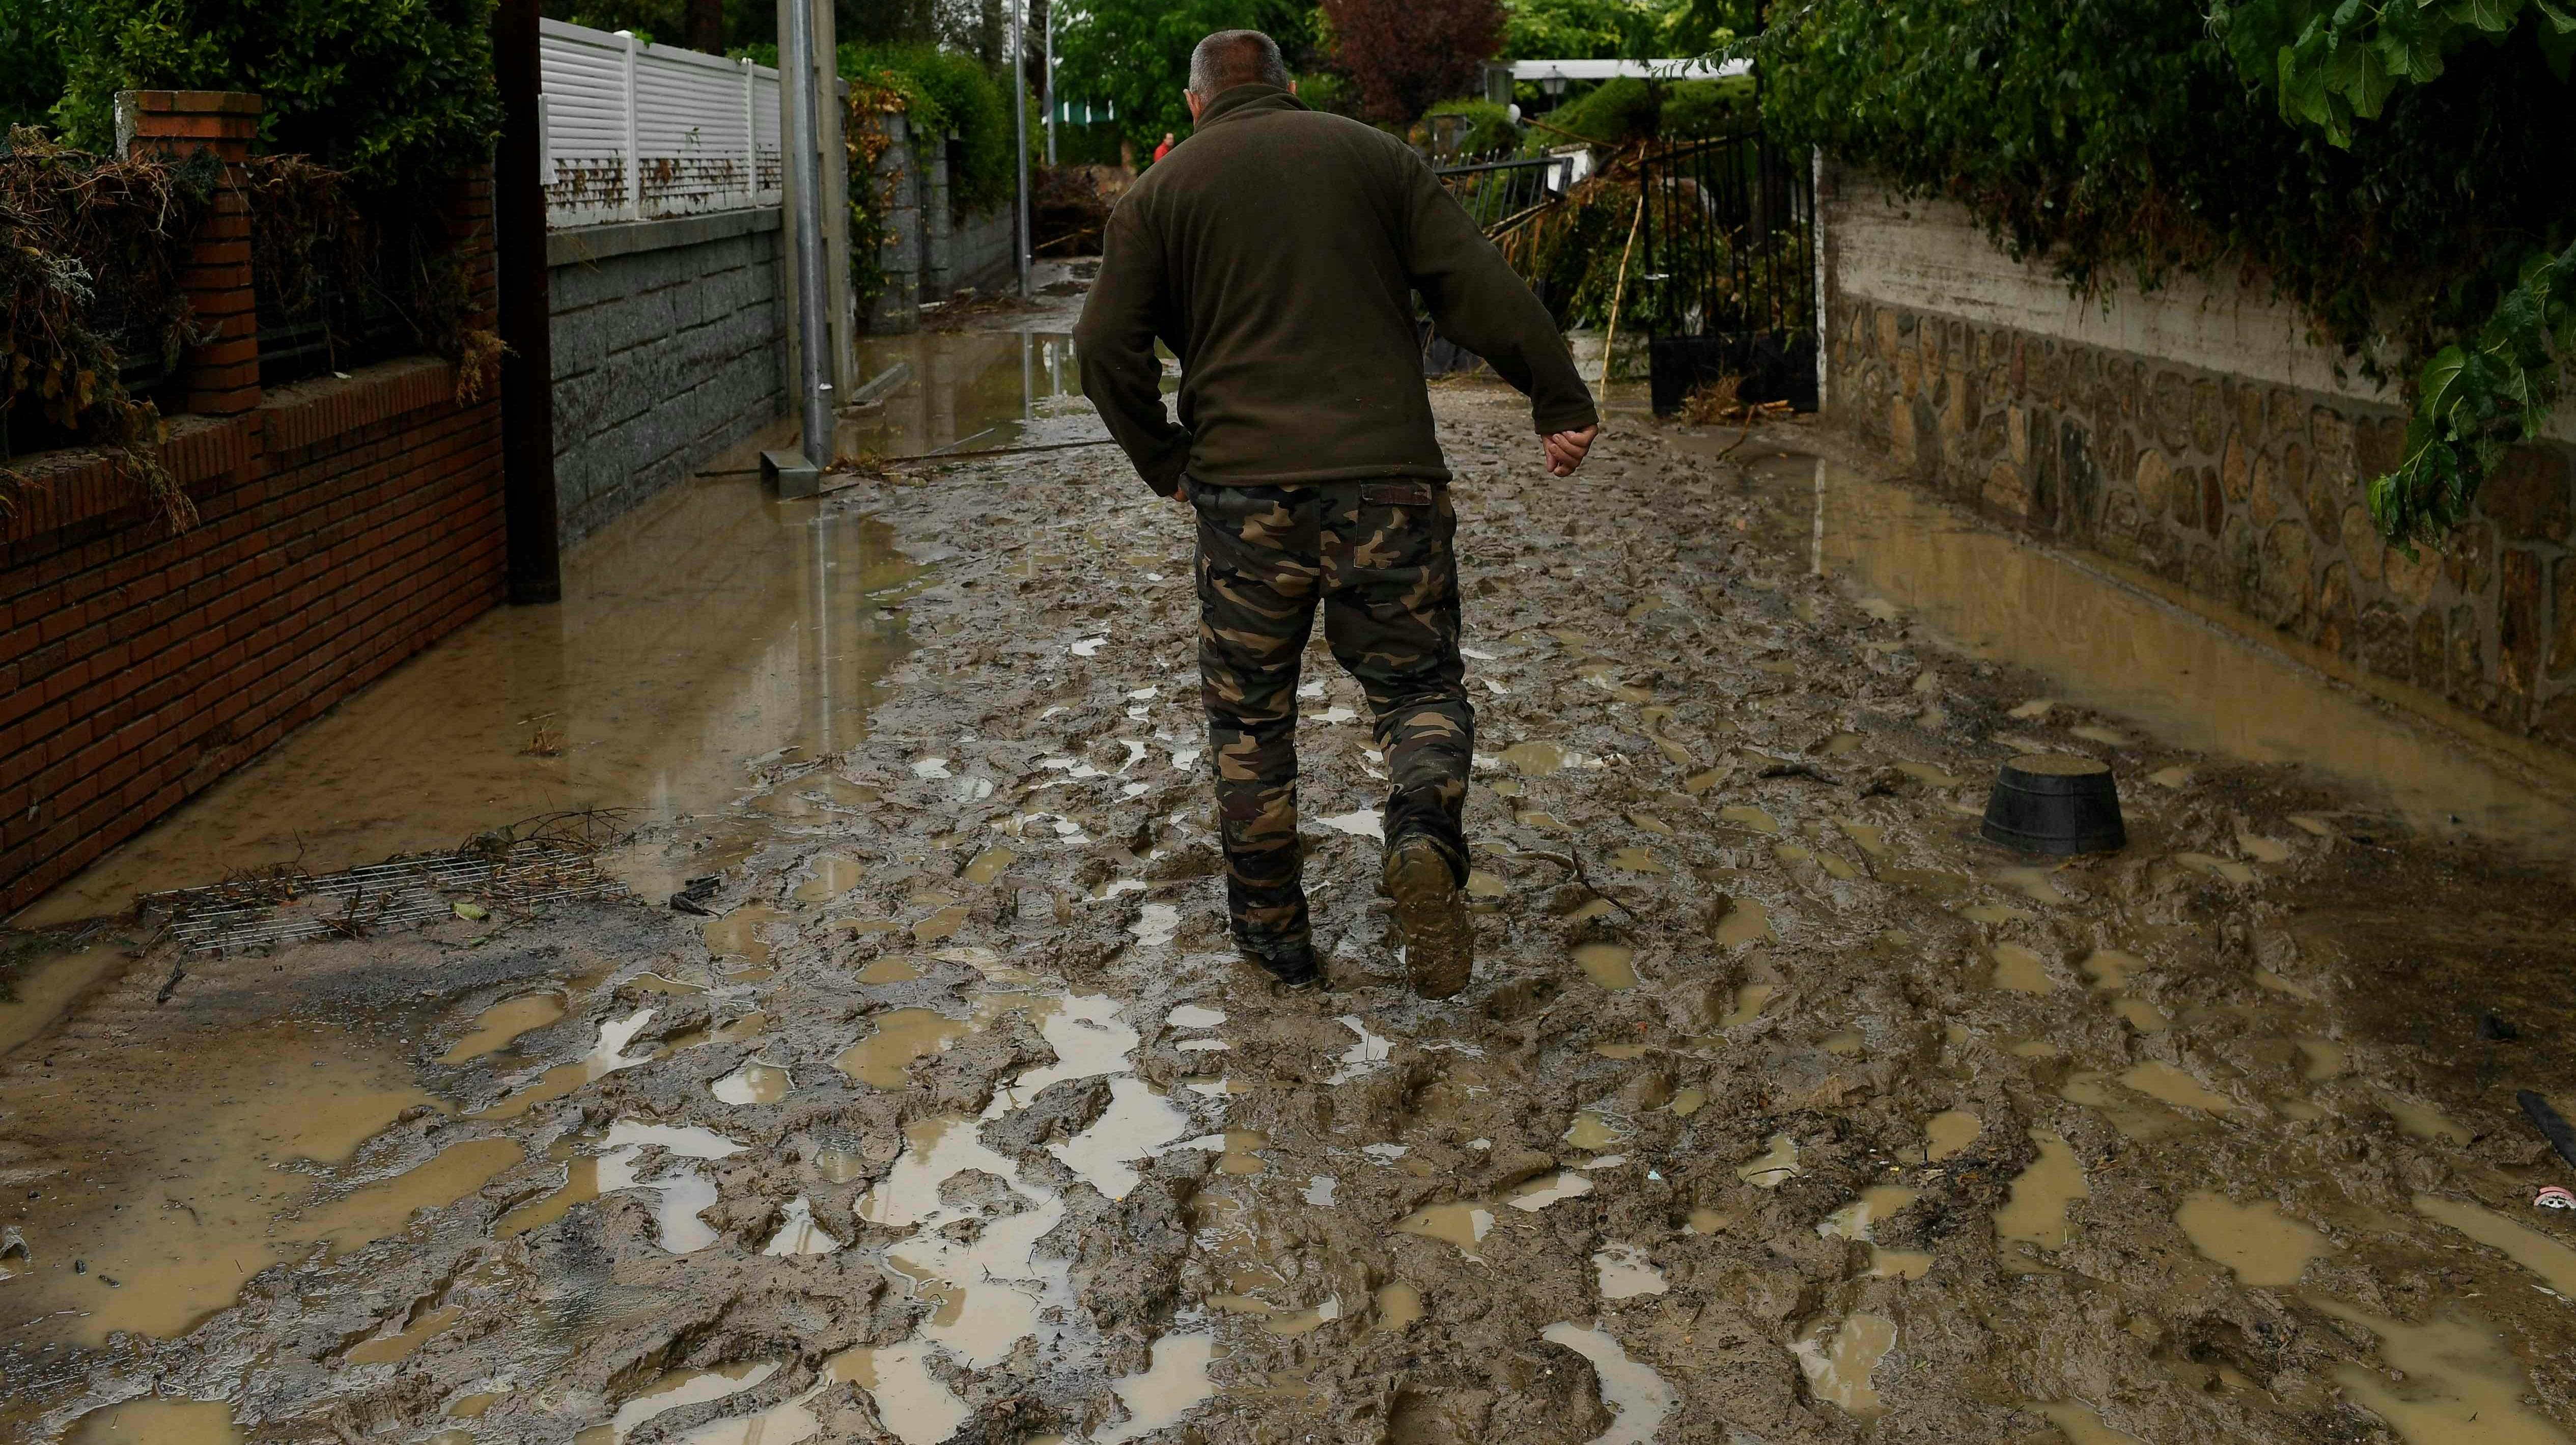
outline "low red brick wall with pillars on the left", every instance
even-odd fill
[[[242,160],[258,95],[129,95],[137,149]],[[469,327],[492,325],[489,178],[453,188]],[[263,747],[502,598],[500,404],[438,358],[260,389],[250,232],[216,209],[162,461],[170,533],[111,458],[21,458],[0,518],[0,912],[23,907]]]

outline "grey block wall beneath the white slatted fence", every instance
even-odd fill
[[[559,533],[598,531],[786,415],[778,211],[549,237]]]

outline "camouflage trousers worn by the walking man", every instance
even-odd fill
[[[1458,662],[1458,515],[1414,479],[1193,487],[1198,677],[1234,932],[1309,940],[1296,837],[1298,662],[1314,610],[1386,755],[1386,842],[1425,835],[1466,881],[1476,713]]]

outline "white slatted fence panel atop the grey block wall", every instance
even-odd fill
[[[538,72],[549,227],[781,201],[775,70],[541,21]]]

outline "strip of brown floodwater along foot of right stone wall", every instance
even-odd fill
[[[1752,471],[1777,507],[1772,525],[1806,536],[1816,572],[1971,654],[2048,675],[2061,698],[2136,719],[2174,747],[2318,768],[2385,796],[2427,835],[2468,829],[2543,858],[2576,855],[2566,775],[2380,706],[1922,489],[1811,456],[1759,458]]]

